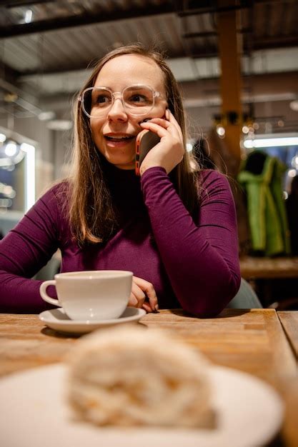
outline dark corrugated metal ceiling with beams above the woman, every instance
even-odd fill
[[[8,94],[17,97],[19,114],[22,108],[37,114],[57,96],[61,109],[61,103],[69,107],[67,98],[79,89],[90,64],[106,51],[134,41],[166,51],[187,92],[186,102],[193,99],[188,91],[194,85],[200,99],[207,85],[215,92],[209,99],[218,98],[217,14],[231,8],[241,19],[244,89],[249,76],[297,75],[297,0],[239,0],[228,8],[222,4],[220,0],[2,0],[1,109],[6,110]],[[203,91],[202,79],[207,80]],[[290,100],[298,95],[293,82],[284,78],[284,83],[287,89],[275,83],[271,96],[284,94]]]

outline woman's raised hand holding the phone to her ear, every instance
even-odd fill
[[[182,130],[169,109],[166,110],[165,117],[166,119],[152,118],[140,124],[142,129],[154,132],[161,139],[144,158],[140,168],[141,175],[154,166],[162,166],[169,174],[183,159],[185,149]]]

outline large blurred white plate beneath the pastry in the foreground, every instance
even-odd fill
[[[211,370],[214,430],[98,428],[75,421],[65,400],[66,366],[43,366],[0,380],[0,440],[5,447],[259,447],[277,433],[283,405],[249,374]]]

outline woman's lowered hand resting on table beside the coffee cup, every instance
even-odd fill
[[[146,312],[158,311],[157,294],[152,283],[133,276],[129,306],[144,308]]]

